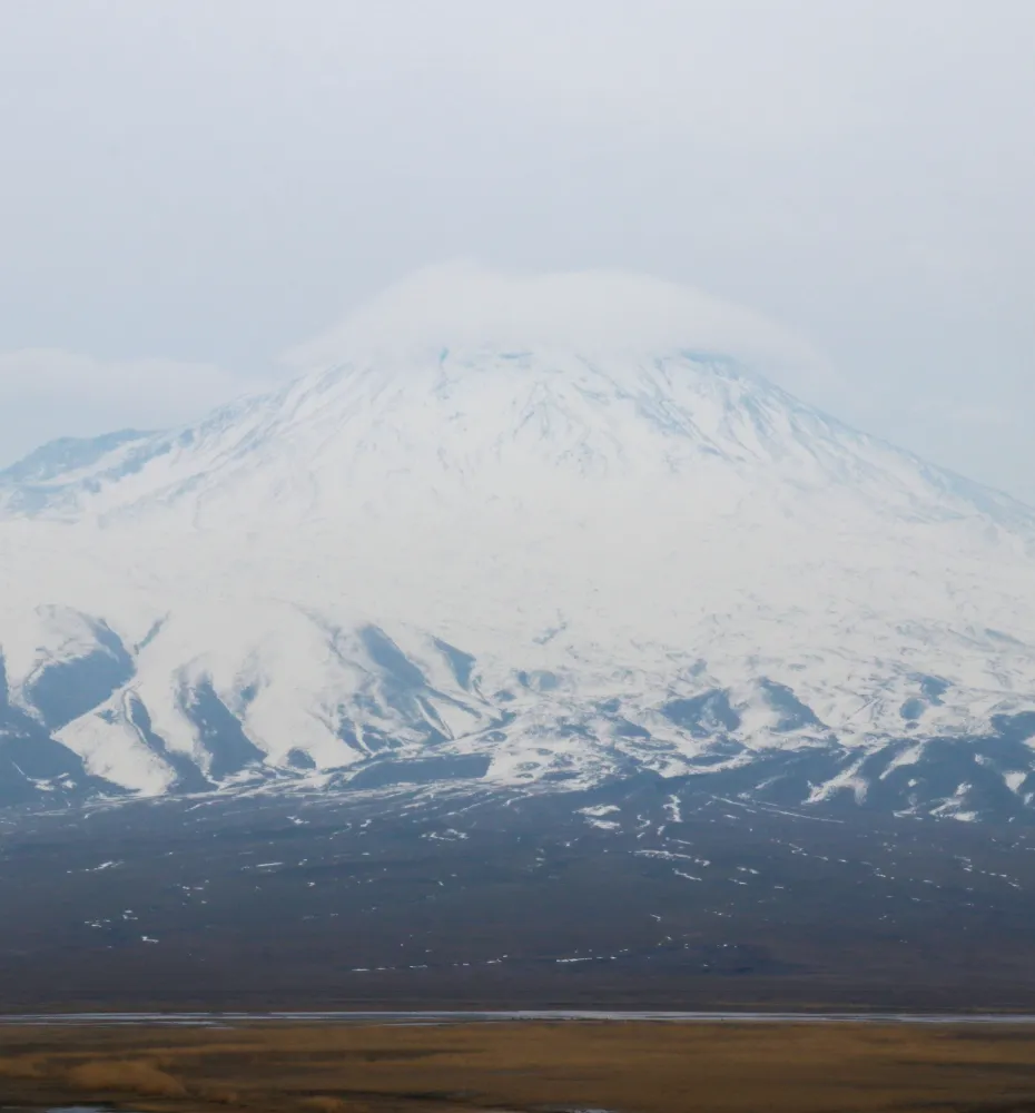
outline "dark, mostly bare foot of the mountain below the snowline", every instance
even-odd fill
[[[3,812],[0,1014],[1035,1012],[1035,829],[670,791]]]

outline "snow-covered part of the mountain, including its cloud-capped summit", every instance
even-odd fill
[[[1023,814],[1035,512],[662,290],[425,277],[276,393],[0,474],[0,798],[655,776]]]

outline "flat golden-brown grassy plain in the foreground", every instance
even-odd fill
[[[1035,1111],[998,1025],[520,1023],[0,1027],[0,1107],[619,1113]]]

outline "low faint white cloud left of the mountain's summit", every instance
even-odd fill
[[[99,359],[59,348],[0,353],[0,462],[59,436],[165,429],[269,385],[260,376],[176,359]]]

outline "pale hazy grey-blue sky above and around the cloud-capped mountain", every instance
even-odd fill
[[[0,0],[0,463],[463,257],[746,305],[1035,502],[1033,52],[1033,0]]]

